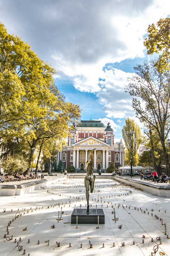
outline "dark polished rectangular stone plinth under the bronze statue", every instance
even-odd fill
[[[71,223],[77,223],[76,216],[78,216],[79,224],[98,224],[97,216],[99,216],[99,224],[105,224],[103,209],[89,209],[89,212],[86,212],[86,209],[74,208],[71,214]]]

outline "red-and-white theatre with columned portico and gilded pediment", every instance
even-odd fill
[[[73,165],[76,172],[86,171],[86,162],[89,159],[92,149],[94,150],[94,172],[97,169],[103,172],[111,162],[115,167],[124,165],[124,145],[122,140],[114,143],[114,131],[107,124],[107,127],[101,121],[81,121],[81,123],[70,131],[68,145],[62,152],[57,152],[57,164],[62,160],[64,168]]]

